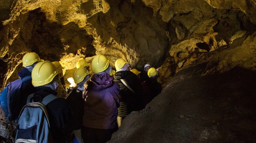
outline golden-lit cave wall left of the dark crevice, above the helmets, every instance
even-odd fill
[[[0,31],[0,58],[6,67],[1,87],[17,78],[26,52],[59,60],[65,70],[84,57],[90,62],[98,53],[108,56],[112,67],[124,58],[142,68],[146,62],[163,61],[168,45],[166,23],[140,1],[17,0],[10,13]]]

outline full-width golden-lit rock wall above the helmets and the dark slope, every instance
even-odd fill
[[[17,79],[22,57],[31,51],[41,59],[60,61],[66,79],[79,59],[86,57],[90,62],[102,53],[111,59],[113,68],[118,58],[138,70],[145,63],[161,66],[163,82],[215,51],[236,48],[239,42],[231,45],[237,39],[250,52],[247,59],[235,63],[250,61],[255,54],[254,0],[1,1],[2,88]],[[247,37],[250,46],[243,43]],[[236,50],[226,53],[236,54]],[[255,69],[252,63],[245,67]]]

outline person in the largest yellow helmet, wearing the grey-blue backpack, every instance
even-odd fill
[[[40,102],[48,95],[57,95],[58,70],[50,61],[38,62],[32,70],[32,84],[37,87],[34,101]],[[46,105],[49,115],[50,132],[54,143],[67,143],[70,135],[71,109],[65,98],[55,98]],[[65,128],[64,128],[65,127]]]

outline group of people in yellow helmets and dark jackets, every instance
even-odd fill
[[[73,73],[76,87],[66,90],[62,69],[57,61],[43,61],[37,53],[23,56],[20,78],[31,75],[23,86],[24,102],[34,93],[35,101],[49,94],[58,96],[47,104],[49,124],[54,143],[105,143],[132,111],[140,110],[162,87],[157,82],[159,68],[145,64],[142,72],[131,69],[125,59],[117,59],[116,70],[109,59],[96,55],[91,63],[77,62]]]

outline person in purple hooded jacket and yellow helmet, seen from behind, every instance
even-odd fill
[[[118,129],[119,84],[110,76],[109,62],[104,55],[96,55],[92,60],[94,75],[84,84],[84,143],[105,143]]]

